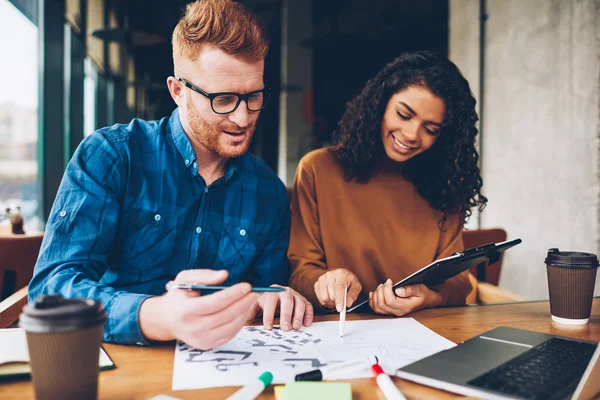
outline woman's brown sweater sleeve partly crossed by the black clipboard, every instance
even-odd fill
[[[457,251],[464,250],[462,230],[463,226],[458,215],[448,216],[440,236],[436,259],[448,257]],[[453,276],[444,283],[432,287],[432,289],[437,290],[442,295],[442,305],[464,305],[467,296],[473,289],[469,281],[469,271]]]

